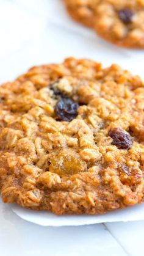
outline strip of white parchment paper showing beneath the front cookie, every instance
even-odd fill
[[[78,226],[88,225],[103,222],[117,222],[117,221],[138,221],[144,219],[144,203],[136,205],[131,208],[111,211],[103,215],[64,215],[56,216],[55,214],[48,213],[47,211],[32,211],[18,207],[14,205],[12,207],[14,213],[20,216],[22,219],[30,222],[34,222],[43,226]]]

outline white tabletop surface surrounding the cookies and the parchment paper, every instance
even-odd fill
[[[143,75],[143,51],[117,48],[71,21],[60,0],[0,0],[0,82],[32,65],[87,57]],[[0,202],[2,256],[141,256],[144,221],[41,227]]]

